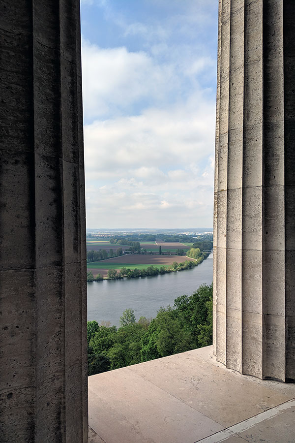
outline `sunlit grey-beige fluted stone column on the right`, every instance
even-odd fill
[[[295,2],[220,0],[214,353],[295,379]]]

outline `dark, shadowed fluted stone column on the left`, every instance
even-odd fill
[[[0,441],[85,443],[79,1],[2,1],[0,41]]]

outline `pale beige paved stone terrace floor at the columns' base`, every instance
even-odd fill
[[[212,347],[89,377],[89,443],[295,442],[295,384],[226,369]]]

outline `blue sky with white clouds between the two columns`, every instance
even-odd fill
[[[217,0],[81,0],[88,228],[212,227]]]

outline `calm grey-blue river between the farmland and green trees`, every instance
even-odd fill
[[[180,295],[191,295],[200,285],[212,283],[213,255],[193,269],[138,279],[104,280],[87,284],[88,320],[110,321],[119,326],[122,312],[134,309],[140,316],[155,317],[158,309],[173,305]]]

